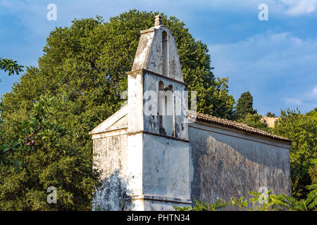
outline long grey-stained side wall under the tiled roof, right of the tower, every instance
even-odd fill
[[[290,195],[287,144],[198,123],[189,125],[189,141],[192,199],[248,197],[261,186]]]

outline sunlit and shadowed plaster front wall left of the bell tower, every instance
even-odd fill
[[[106,136],[93,140],[95,166],[103,184],[93,199],[93,210],[123,210],[127,206],[127,135]]]

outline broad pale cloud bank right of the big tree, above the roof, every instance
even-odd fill
[[[215,75],[229,77],[235,98],[249,90],[259,110],[316,107],[317,86],[311,87],[317,82],[316,39],[268,32],[237,43],[209,45],[209,50]]]

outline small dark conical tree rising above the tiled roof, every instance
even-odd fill
[[[243,119],[248,113],[255,114],[256,110],[253,108],[253,97],[249,91],[246,91],[237,101],[236,116],[238,119]]]

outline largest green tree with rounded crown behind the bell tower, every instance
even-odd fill
[[[27,68],[13,91],[4,95],[6,134],[10,121],[23,120],[41,94],[51,91],[65,97],[72,111],[74,129],[87,130],[120,108],[120,94],[127,89],[125,72],[132,68],[140,30],[154,25],[154,15],[139,11],[122,13],[108,22],[101,18],[73,20],[71,27],[56,28],[49,34],[39,68]],[[185,23],[162,15],[176,38],[182,72],[189,91],[197,91],[197,109],[230,118],[234,98],[228,94],[228,79],[216,79],[206,44],[195,41]]]

